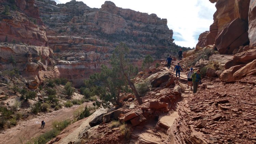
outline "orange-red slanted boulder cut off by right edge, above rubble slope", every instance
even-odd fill
[[[237,81],[245,76],[256,75],[256,59],[242,67],[233,74],[233,80]]]

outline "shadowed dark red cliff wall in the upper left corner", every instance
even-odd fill
[[[44,28],[36,25],[42,24],[42,20],[39,17],[39,10],[34,6],[33,1],[20,0],[16,3],[17,11],[11,10],[9,15],[1,15],[0,41],[48,46]],[[0,9],[4,9],[3,4],[0,5]],[[28,15],[22,13],[23,11]]]

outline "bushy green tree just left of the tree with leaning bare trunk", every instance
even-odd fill
[[[109,108],[120,106],[120,93],[125,91],[125,84],[122,73],[105,65],[101,66],[100,73],[91,74],[85,81],[85,87],[91,91],[90,95],[98,95],[101,100],[96,101],[96,104]]]

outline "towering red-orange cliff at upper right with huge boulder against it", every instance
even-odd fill
[[[240,46],[254,46],[254,0],[218,0],[216,12],[213,16],[214,23],[210,26],[210,32],[199,36],[198,46],[204,47],[215,44],[219,53],[232,54],[237,52]],[[250,9],[249,9],[250,8]],[[237,31],[238,32],[235,32]],[[230,38],[232,36],[232,38]]]

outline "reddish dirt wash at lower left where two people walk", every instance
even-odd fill
[[[93,102],[86,102],[84,106],[92,106]],[[80,105],[75,105],[70,108],[63,108],[58,111],[53,111],[52,113],[46,113],[38,115],[33,119],[26,121],[21,121],[17,126],[2,131],[0,133],[0,144],[20,144],[20,138],[25,138],[25,140],[30,140],[32,137],[38,136],[42,133],[49,131],[52,128],[52,123],[55,120],[63,120],[73,117],[73,112]],[[45,127],[41,128],[41,121],[45,121]]]

